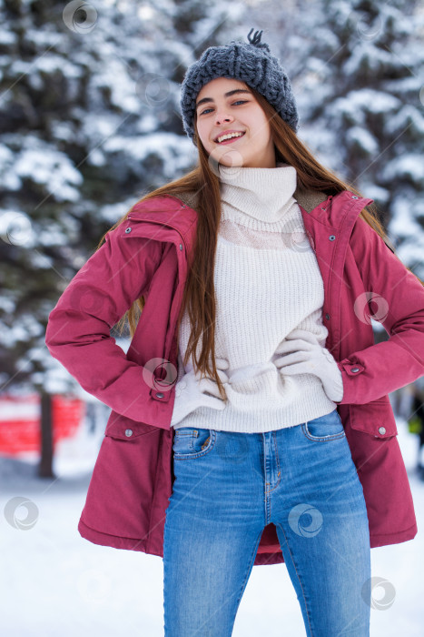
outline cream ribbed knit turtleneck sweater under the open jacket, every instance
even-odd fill
[[[231,376],[248,367],[240,382],[224,385],[223,410],[198,407],[180,427],[256,433],[292,427],[336,408],[313,374],[284,377],[276,368],[279,344],[293,329],[307,329],[325,347],[324,288],[307,238],[301,208],[292,197],[294,167],[220,165],[222,217],[215,256],[217,300],[215,355]],[[178,380],[190,336],[187,312],[179,335]],[[198,352],[200,353],[200,344]],[[249,373],[251,371],[251,376]],[[341,374],[340,374],[341,377]],[[340,384],[340,399],[342,384]],[[175,401],[179,396],[175,396]]]

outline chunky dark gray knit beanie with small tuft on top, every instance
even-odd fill
[[[251,37],[253,30],[247,35],[249,44],[232,40],[228,45],[210,46],[188,67],[182,80],[182,126],[194,145],[196,97],[202,86],[216,77],[239,79],[257,90],[297,133],[299,115],[289,77],[279,60],[271,56],[269,45],[261,42],[262,32]]]

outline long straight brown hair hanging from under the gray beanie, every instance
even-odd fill
[[[337,177],[334,173],[330,172],[330,170],[321,166],[315,157],[312,156],[308,147],[301,142],[301,139],[294,133],[291,127],[278,115],[268,100],[261,96],[256,90],[252,89],[251,86],[249,86],[249,88],[270,123],[276,162],[283,162],[296,168],[298,187],[320,191],[327,196],[334,196],[343,190],[350,190],[350,192],[359,197],[361,196],[360,192],[350,183],[342,181],[340,177]],[[221,217],[220,180],[213,172],[209,164],[209,156],[197,136],[196,121],[197,117],[196,114],[194,114],[194,141],[199,153],[197,166],[183,177],[156,188],[139,201],[145,201],[165,194],[178,197],[179,194],[184,192],[194,192],[196,195],[197,232],[194,257],[192,260],[192,268],[189,270],[184,288],[177,329],[180,327],[184,309],[187,308],[191,323],[191,334],[183,364],[185,366],[190,356],[192,356],[194,369],[201,372],[202,376],[204,375],[214,379],[219,387],[222,399],[226,399],[225,389],[223,388],[216,369],[214,347],[216,307],[213,268],[218,226]],[[128,217],[129,213],[130,210],[107,232],[118,227]],[[386,231],[380,223],[379,214],[375,205],[370,204],[364,207],[360,211],[360,217],[380,235],[394,252],[394,248],[387,238]],[[99,249],[104,243],[107,232],[101,238],[96,249]],[[137,319],[143,311],[144,302],[143,297],[137,298],[133,302],[133,306],[125,312],[123,318],[120,319],[117,324],[118,328],[121,329],[121,333],[126,321],[128,321],[130,334],[133,338],[137,326]],[[197,345],[200,339],[202,339],[202,349],[198,357]],[[212,361],[212,366],[210,365],[210,361]]]

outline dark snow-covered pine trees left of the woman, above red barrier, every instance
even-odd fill
[[[104,232],[191,168],[179,84],[241,12],[0,0],[0,392],[79,390],[45,347],[48,314]]]

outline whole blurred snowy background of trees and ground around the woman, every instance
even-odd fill
[[[184,72],[251,27],[291,77],[299,136],[374,199],[424,279],[424,6],[415,0],[0,0],[2,634],[163,635],[163,561],[77,523],[110,410],[45,347],[50,311],[104,233],[192,169]],[[373,321],[375,340],[387,339]],[[129,336],[111,332],[126,351]],[[371,637],[421,635],[424,383],[390,395],[419,534],[371,551]],[[304,635],[283,565],[256,567],[234,637]]]

